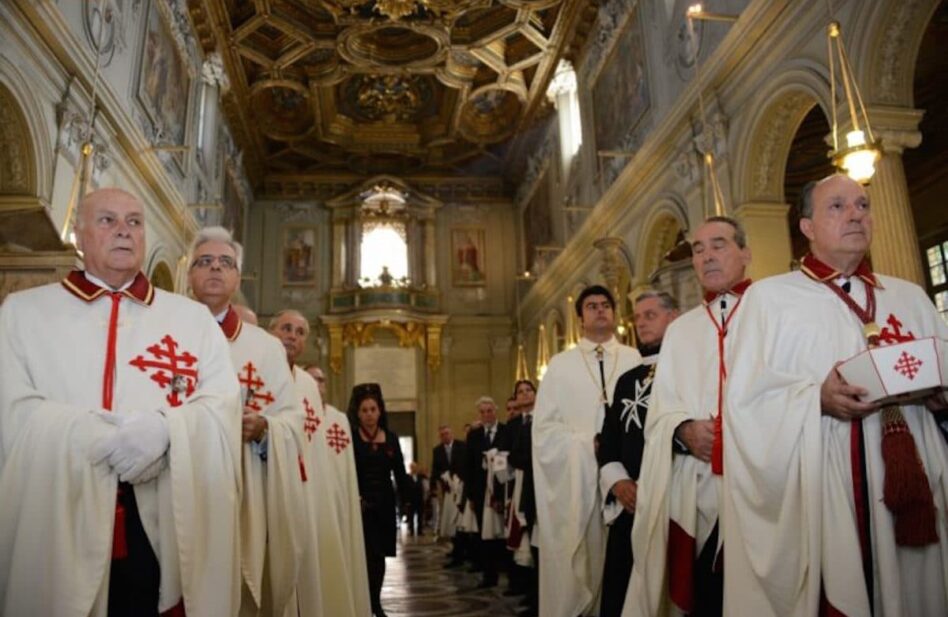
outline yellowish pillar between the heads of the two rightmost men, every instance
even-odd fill
[[[787,212],[790,206],[779,202],[748,202],[734,211],[734,216],[747,232],[751,263],[747,275],[760,279],[790,270],[793,249]]]

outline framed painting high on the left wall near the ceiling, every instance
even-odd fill
[[[136,98],[152,125],[155,141],[163,146],[184,146],[187,140],[191,74],[188,60],[178,47],[159,0],[148,5],[142,43]],[[183,152],[172,152],[179,171],[185,171]]]

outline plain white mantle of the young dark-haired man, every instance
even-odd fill
[[[606,394],[638,366],[638,351],[615,338],[604,343]],[[598,612],[605,560],[605,525],[599,513],[595,437],[605,417],[594,343],[582,339],[556,354],[537,392],[533,411],[533,471],[540,549],[540,614],[576,617]]]

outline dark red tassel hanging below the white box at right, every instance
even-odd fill
[[[901,417],[884,420],[882,460],[885,461],[883,501],[895,519],[896,543],[925,546],[938,542],[931,487],[915,440]]]

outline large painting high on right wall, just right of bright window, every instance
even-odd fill
[[[645,44],[638,10],[633,11],[615,37],[609,57],[595,78],[592,91],[596,148],[618,150],[648,111]]]

